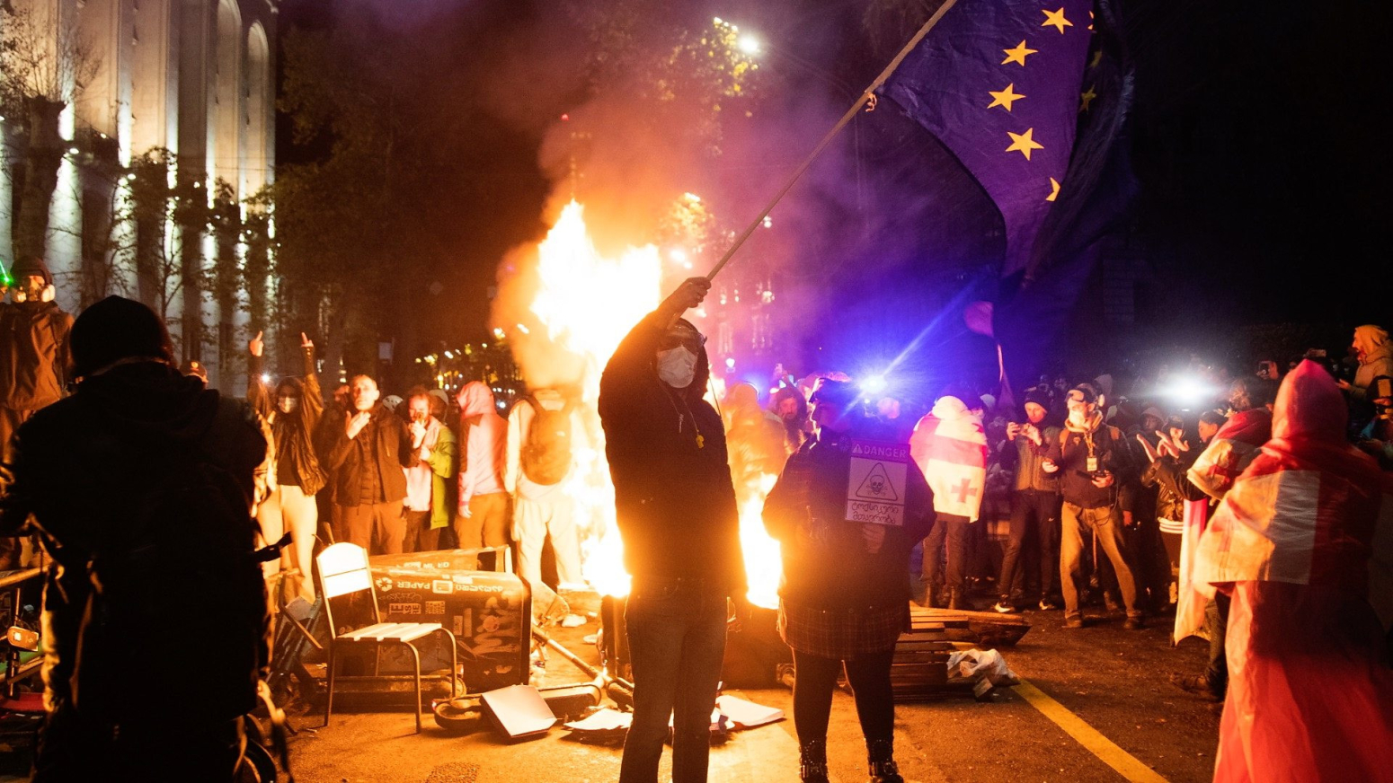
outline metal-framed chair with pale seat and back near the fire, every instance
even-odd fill
[[[456,695],[456,676],[460,670],[460,652],[456,647],[454,634],[440,623],[383,623],[382,612],[378,608],[378,590],[372,581],[372,572],[368,565],[368,552],[357,544],[334,544],[320,552],[315,562],[319,565],[319,590],[323,595],[325,615],[329,620],[329,687],[325,697],[325,726],[329,726],[329,716],[334,708],[334,665],[337,651],[341,645],[354,647],[371,644],[373,647],[403,645],[411,651],[415,666],[417,686],[417,733],[421,733],[421,712],[425,705],[421,695],[421,651],[415,641],[433,633],[444,634],[450,647],[450,697]],[[334,623],[334,612],[330,606],[332,598],[351,595],[354,592],[368,592],[372,598],[372,624],[340,634]],[[380,676],[378,670],[378,655],[373,651],[373,677]]]

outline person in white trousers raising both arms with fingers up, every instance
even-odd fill
[[[274,396],[267,392],[262,376],[266,344],[260,331],[247,348],[251,353],[247,360],[247,402],[252,403],[270,424],[274,449],[270,495],[256,509],[256,522],[267,544],[279,541],[287,530],[291,535],[291,545],[281,551],[280,560],[266,563],[266,576],[279,573],[283,565],[299,569],[298,574],[286,577],[280,597],[287,604],[295,597],[313,604],[315,580],[311,579],[311,560],[315,552],[315,530],[319,526],[315,494],[327,481],[313,445],[315,428],[319,427],[319,417],[325,412],[319,376],[315,374],[315,344],[305,337],[305,332],[299,334],[304,380],[293,376],[281,378],[276,384]],[[274,595],[274,591],[272,594]]]

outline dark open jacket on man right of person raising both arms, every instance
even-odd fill
[[[387,410],[378,405],[372,421],[350,438],[347,417],[352,412],[326,414],[319,420],[319,463],[329,471],[333,501],[341,506],[362,505],[362,490],[371,481],[369,470],[378,471],[382,485],[380,502],[391,503],[407,497],[407,474],[411,467],[411,433]]]

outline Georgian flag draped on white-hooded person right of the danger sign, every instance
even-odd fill
[[[933,490],[933,510],[975,522],[986,491],[986,431],[967,405],[943,396],[914,427],[910,456]]]

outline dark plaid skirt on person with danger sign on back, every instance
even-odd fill
[[[779,601],[779,636],[807,655],[851,661],[894,649],[910,630],[910,602],[854,609],[823,609]]]

